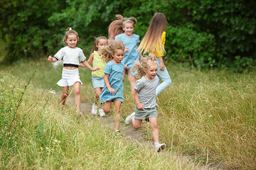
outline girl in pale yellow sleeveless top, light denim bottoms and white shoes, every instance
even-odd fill
[[[99,105],[100,93],[104,87],[104,68],[106,62],[102,60],[102,57],[98,54],[98,50],[102,49],[107,45],[107,38],[98,37],[95,39],[95,44],[92,47],[92,54],[90,58],[87,60],[88,64],[92,63],[92,67],[99,67],[100,69],[92,72],[92,86],[95,89],[95,102],[92,104],[92,115],[97,114],[97,106]],[[79,67],[85,67],[84,64],[79,64]],[[99,108],[100,116],[105,116],[105,112],[102,108]]]

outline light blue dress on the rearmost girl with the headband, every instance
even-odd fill
[[[124,59],[122,63],[127,65],[131,69],[136,61],[139,61],[139,52],[137,51],[139,41],[139,35],[133,34],[132,37],[127,37],[124,33],[119,34],[114,37],[114,40],[120,40],[124,43],[125,47],[128,47],[129,50],[124,52]],[[130,71],[134,76],[135,74]]]

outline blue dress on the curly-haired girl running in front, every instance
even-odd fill
[[[115,94],[110,94],[110,91],[107,89],[106,84],[104,85],[103,91],[100,93],[100,102],[106,103],[106,101],[114,101],[118,100],[123,102],[124,96],[123,96],[123,89],[124,85],[122,82],[122,76],[124,72],[124,64],[116,64],[114,62],[107,62],[104,73],[110,74],[109,75],[109,81],[110,86],[114,89]]]

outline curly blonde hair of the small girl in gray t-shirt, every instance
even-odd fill
[[[144,69],[148,69],[151,65],[158,65],[158,63],[156,62],[154,57],[144,56],[141,58],[141,60],[136,62],[136,64],[134,65],[134,67],[132,67],[131,70],[132,72],[137,71],[137,74],[135,74],[135,77],[137,79],[141,79],[146,74],[146,72],[144,72]]]

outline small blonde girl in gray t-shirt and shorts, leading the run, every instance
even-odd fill
[[[136,102],[135,112],[125,119],[125,123],[132,122],[134,128],[139,129],[142,120],[149,118],[152,135],[154,137],[154,147],[159,152],[165,148],[165,144],[159,143],[159,130],[157,127],[157,111],[156,111],[156,86],[159,82],[157,74],[157,62],[147,57],[142,57],[140,62],[132,67],[137,70],[136,77],[141,78],[136,81],[136,86],[132,91]]]

